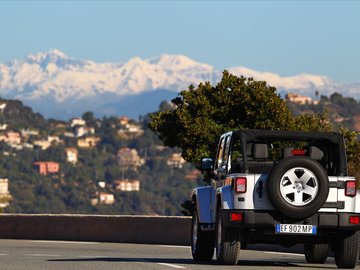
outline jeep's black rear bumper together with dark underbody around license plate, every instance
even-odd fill
[[[241,213],[242,220],[232,221],[232,213]],[[350,224],[350,213],[317,213],[302,220],[287,220],[277,212],[257,212],[251,210],[222,210],[223,225],[227,228],[226,238],[238,239],[241,243],[279,244],[293,246],[296,244],[327,243],[333,248],[337,239],[347,237],[360,230],[360,225]],[[360,214],[357,214],[360,216]],[[239,216],[238,216],[239,217]],[[316,234],[276,233],[276,224],[316,225]]]

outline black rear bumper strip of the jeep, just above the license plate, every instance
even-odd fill
[[[232,221],[231,214],[242,214],[242,220]],[[350,216],[358,216],[355,213],[323,213],[301,220],[285,219],[276,211],[261,212],[253,210],[222,210],[222,220],[226,227],[237,228],[269,228],[275,231],[276,224],[310,224],[316,225],[318,230],[360,230],[360,224],[350,224]]]

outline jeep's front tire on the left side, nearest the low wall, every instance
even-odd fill
[[[214,256],[215,232],[203,232],[197,211],[193,211],[191,222],[191,254],[194,261],[211,261]]]

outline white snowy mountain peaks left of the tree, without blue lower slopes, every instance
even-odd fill
[[[123,96],[155,89],[178,91],[210,78],[208,74],[213,69],[177,55],[152,60],[134,57],[123,64],[97,64],[77,61],[51,50],[1,65],[0,91],[26,100],[52,95],[60,103],[105,92]]]

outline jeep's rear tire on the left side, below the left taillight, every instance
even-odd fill
[[[216,219],[216,259],[219,264],[236,265],[240,258],[240,241],[232,237],[231,231],[223,226],[221,210],[218,211]],[[229,240],[230,238],[230,240]]]

